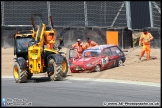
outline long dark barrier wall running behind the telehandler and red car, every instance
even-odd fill
[[[32,29],[31,26],[1,27],[1,31],[2,31],[1,46],[4,48],[12,47],[13,37],[17,31],[31,30],[31,29]],[[122,31],[122,29],[116,29],[116,30],[119,33],[119,47],[123,47],[123,48],[133,47],[132,32],[130,30],[124,30],[124,32]],[[56,27],[56,31],[57,31],[57,39],[63,37],[64,39],[63,46],[67,48],[70,48],[71,45],[74,44],[78,38],[80,38],[83,42],[86,42],[87,37],[90,37],[98,44],[107,44],[106,42],[107,27]],[[123,41],[121,41],[122,36],[123,36]]]

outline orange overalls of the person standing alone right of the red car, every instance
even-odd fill
[[[142,51],[141,51],[141,54],[140,54],[140,58],[143,57],[143,55],[145,54],[145,52],[147,53],[147,56],[146,56],[146,59],[149,60],[150,59],[150,40],[153,40],[154,37],[150,34],[150,33],[147,33],[147,34],[144,34],[142,33],[141,36],[140,36],[140,40],[139,40],[139,44],[142,44]]]

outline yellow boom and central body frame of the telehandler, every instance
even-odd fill
[[[54,34],[56,33],[54,29],[51,29],[50,31],[46,31],[46,25],[43,23],[41,26],[42,26],[41,31],[40,31],[41,27],[38,26],[38,30],[35,35],[35,40],[37,43],[28,48],[29,71],[34,74],[43,72],[43,66],[41,63],[42,61],[41,54],[43,51],[43,45],[46,44],[45,39],[49,33],[54,33]],[[38,37],[40,38],[40,40],[37,40]],[[54,54],[59,54],[58,51],[48,49],[48,48],[45,48],[44,51],[52,52]]]

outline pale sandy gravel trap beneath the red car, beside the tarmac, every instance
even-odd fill
[[[68,52],[67,49],[62,49]],[[13,66],[13,48],[2,48],[2,76],[12,75]],[[143,57],[143,62],[138,60],[138,55],[141,49],[129,49],[128,55],[126,56],[126,62],[122,67],[116,67],[108,69],[102,72],[95,73],[71,73],[68,72],[67,77],[80,77],[80,78],[106,78],[106,79],[118,79],[118,80],[132,80],[132,81],[144,81],[144,82],[155,82],[160,83],[161,81],[161,71],[160,71],[160,49],[152,49],[151,57],[149,61],[145,60]],[[38,74],[39,76],[45,76],[45,74]]]

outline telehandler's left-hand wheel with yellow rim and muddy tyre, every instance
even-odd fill
[[[16,83],[24,83],[27,81],[27,71],[26,69],[20,69],[20,66],[17,62],[13,66],[13,76]]]

